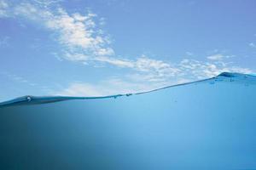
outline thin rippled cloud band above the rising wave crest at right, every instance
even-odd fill
[[[229,57],[225,56],[225,58]],[[224,60],[220,61],[219,59],[211,62],[196,59],[182,59],[178,63],[171,63],[160,59],[151,59],[148,56],[142,55],[134,60],[107,57],[99,59],[99,61],[101,60],[110,65],[130,68],[136,71],[137,75],[143,75],[140,79],[145,80],[145,77],[147,77],[148,82],[170,82],[170,79],[176,82],[179,78],[197,80],[215,77],[224,71],[241,73],[253,72],[248,68],[234,66],[230,62],[225,62]]]

